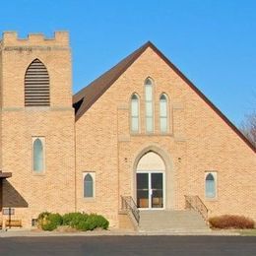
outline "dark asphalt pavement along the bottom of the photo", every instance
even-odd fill
[[[70,236],[2,237],[0,255],[255,256],[256,237]]]

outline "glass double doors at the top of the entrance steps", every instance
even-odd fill
[[[137,206],[163,208],[163,172],[137,172]]]

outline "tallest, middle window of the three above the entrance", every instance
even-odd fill
[[[145,81],[145,104],[146,131],[152,133],[154,130],[153,82],[149,78],[147,78]]]

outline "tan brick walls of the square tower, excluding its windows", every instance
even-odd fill
[[[50,78],[50,106],[25,107],[25,73],[37,58]],[[18,39],[6,32],[1,42],[1,169],[3,208],[15,208],[14,219],[30,226],[42,211],[75,210],[75,137],[71,56],[67,32],[54,39],[34,34]],[[45,172],[32,172],[32,138],[45,140]],[[5,218],[5,216],[4,216]]]

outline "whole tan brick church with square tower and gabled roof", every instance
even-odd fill
[[[151,42],[72,95],[69,34],[0,40],[0,222],[112,226],[187,209],[256,220],[255,148]],[[152,219],[154,222],[154,219]]]

